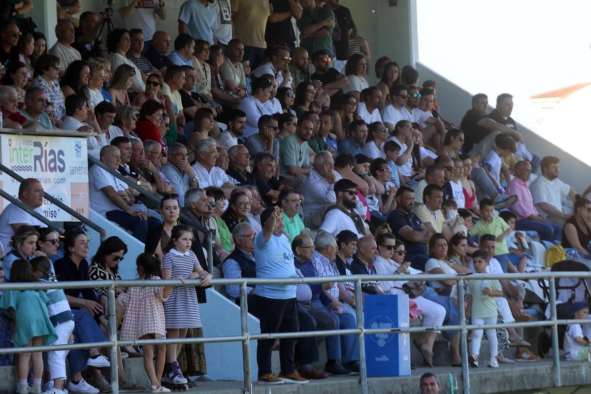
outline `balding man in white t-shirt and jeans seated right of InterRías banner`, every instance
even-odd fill
[[[119,148],[113,145],[103,146],[100,149],[100,161],[116,171],[121,163]],[[90,167],[88,185],[90,208],[111,222],[130,230],[140,242],[145,243],[148,232],[160,226],[160,220],[132,209],[135,196],[128,185],[98,165]]]

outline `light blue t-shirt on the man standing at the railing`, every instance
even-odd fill
[[[271,235],[265,242],[263,232],[255,237],[257,278],[297,278],[294,254],[286,236]],[[255,294],[265,298],[296,298],[296,285],[256,285]]]

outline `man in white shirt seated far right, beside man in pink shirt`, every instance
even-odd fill
[[[575,200],[574,188],[560,179],[559,160],[554,156],[546,156],[541,161],[541,177],[537,177],[530,185],[531,196],[538,212],[545,217],[548,223],[564,226],[564,223],[573,213]],[[583,196],[589,193],[590,188],[584,191]]]

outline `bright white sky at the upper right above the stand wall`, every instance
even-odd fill
[[[591,81],[589,15],[584,0],[417,0],[419,58],[493,106],[511,93],[512,118],[543,133],[530,96]]]

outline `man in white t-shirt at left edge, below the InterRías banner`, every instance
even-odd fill
[[[35,178],[27,178],[21,182],[18,187],[18,199],[23,204],[43,215],[41,205],[43,205],[43,185]],[[40,220],[20,209],[15,204],[8,204],[0,214],[0,245],[4,252],[8,252],[8,246],[12,235],[18,227],[28,224],[29,226],[47,227]]]

